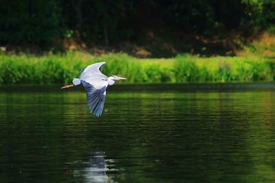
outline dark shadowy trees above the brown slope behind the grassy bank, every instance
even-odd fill
[[[203,36],[274,32],[274,0],[0,0],[0,44],[50,49],[142,41],[144,32]]]

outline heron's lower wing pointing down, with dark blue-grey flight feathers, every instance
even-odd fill
[[[95,81],[93,81],[93,80],[90,80],[90,81],[82,80],[81,82],[86,89],[89,110],[96,117],[100,117],[102,114],[103,106],[104,106],[108,82],[102,80],[100,87],[98,84],[97,84],[97,86],[95,86],[93,84],[93,82],[95,82]]]

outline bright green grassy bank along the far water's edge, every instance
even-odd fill
[[[91,56],[69,52],[60,55],[0,55],[0,84],[70,83],[84,66],[105,61],[106,75],[127,77],[128,83],[254,82],[274,81],[275,62],[262,57],[177,56],[140,59],[123,53]]]

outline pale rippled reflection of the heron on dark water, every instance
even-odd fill
[[[95,151],[88,162],[74,162],[73,164],[85,165],[73,171],[74,178],[83,182],[111,182],[107,176],[107,160],[102,151]],[[78,181],[76,181],[78,182]]]

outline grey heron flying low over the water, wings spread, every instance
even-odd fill
[[[62,87],[69,88],[82,84],[86,89],[89,110],[96,117],[100,117],[102,114],[107,86],[115,84],[116,80],[126,80],[125,77],[119,77],[116,75],[107,77],[102,74],[100,72],[100,68],[105,63],[106,62],[98,62],[96,64],[86,66],[80,71],[78,78],[74,78],[72,82],[73,84]]]

